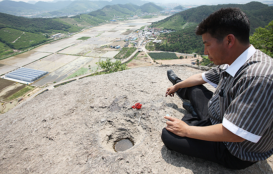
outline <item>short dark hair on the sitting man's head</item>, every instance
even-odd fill
[[[239,8],[221,8],[211,13],[196,28],[197,35],[209,33],[218,42],[233,34],[241,44],[249,44],[250,23]]]

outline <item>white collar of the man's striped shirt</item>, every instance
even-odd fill
[[[246,51],[244,51],[244,53],[242,53],[238,58],[236,58],[225,71],[234,77],[240,67],[243,66],[243,64],[245,64],[245,62],[247,62],[247,60],[250,59],[255,52],[256,49],[253,47],[253,45],[250,45],[250,47],[246,49]]]

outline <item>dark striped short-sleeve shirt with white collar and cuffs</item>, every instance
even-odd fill
[[[253,46],[230,66],[202,74],[216,87],[208,103],[212,124],[222,123],[243,142],[224,142],[245,161],[262,161],[273,154],[273,58]]]

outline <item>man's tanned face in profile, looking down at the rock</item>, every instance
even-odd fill
[[[214,64],[226,64],[226,49],[224,42],[218,42],[216,38],[211,37],[209,33],[202,35],[203,43],[205,45],[204,54],[208,56],[210,61]]]

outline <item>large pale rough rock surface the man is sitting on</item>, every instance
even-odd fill
[[[204,72],[173,65],[86,77],[0,115],[0,173],[273,173],[272,157],[236,171],[166,149],[160,137],[163,116],[182,118],[186,113],[177,95],[165,97],[170,68],[182,79]],[[140,110],[131,108],[136,103],[142,104]],[[115,152],[115,141],[123,138],[135,145]]]

